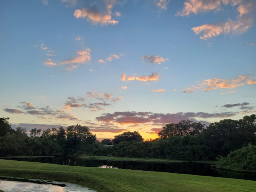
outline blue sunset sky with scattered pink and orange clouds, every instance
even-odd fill
[[[256,113],[256,0],[2,0],[0,116],[103,138]]]

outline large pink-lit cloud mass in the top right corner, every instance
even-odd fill
[[[229,3],[230,1],[225,2]],[[206,3],[205,6],[204,3]],[[211,9],[217,9],[220,7],[221,2],[220,0],[211,0],[207,2],[203,2],[202,0],[189,0],[185,2],[184,5],[185,4],[189,5],[187,8],[185,6],[185,11],[183,14],[180,14],[181,16],[188,15],[191,12],[196,14],[202,10],[208,11]],[[209,6],[209,4],[211,6]],[[200,36],[200,39],[202,40],[207,40],[208,38],[219,36],[220,34],[242,34],[246,32],[254,23],[252,13],[256,10],[255,0],[231,1],[231,4],[232,6],[240,4],[237,8],[240,14],[236,21],[229,18],[226,22],[219,22],[217,24],[203,24],[201,26],[193,27],[191,30],[194,31],[196,35],[202,34]]]

